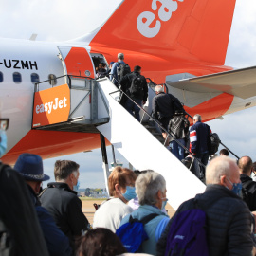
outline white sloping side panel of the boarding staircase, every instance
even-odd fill
[[[167,196],[174,210],[196,193],[204,192],[204,183],[157,139],[159,135],[152,135],[152,125],[149,125],[150,122],[147,123],[151,119],[148,115],[150,104],[145,107],[147,112],[141,109],[142,113],[147,113],[146,117],[141,113],[142,122],[145,124],[143,126],[119,104],[122,92],[117,91],[112,82],[107,78],[98,82],[109,108],[110,120],[97,126],[97,129],[115,149],[136,169],[152,169],[165,177]],[[149,101],[151,97],[149,90]]]

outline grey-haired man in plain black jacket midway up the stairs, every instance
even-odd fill
[[[152,100],[152,115],[167,130],[171,119],[174,117],[173,100],[168,93],[164,92],[161,85],[155,86],[155,97]],[[162,136],[167,137],[164,130],[161,129]]]

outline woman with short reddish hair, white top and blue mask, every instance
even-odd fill
[[[133,211],[127,202],[136,197],[136,174],[133,171],[116,167],[108,178],[109,194],[113,196],[96,210],[93,228],[107,228],[116,232],[123,217]]]

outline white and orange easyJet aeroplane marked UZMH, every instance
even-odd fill
[[[132,68],[142,66],[145,77],[166,83],[187,112],[204,121],[255,106],[255,67],[224,65],[234,8],[235,0],[124,0],[101,27],[75,40],[1,38],[0,102],[2,117],[10,119],[2,160],[12,164],[24,152],[48,158],[101,147],[97,133],[34,129],[34,83],[50,80],[40,85],[47,89],[64,75],[95,78],[95,66],[117,60],[119,52]],[[51,115],[66,106],[63,94],[34,112]]]

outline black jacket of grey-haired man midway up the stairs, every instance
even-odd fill
[[[174,105],[169,94],[161,92],[152,100],[152,111],[155,119],[173,118]]]

